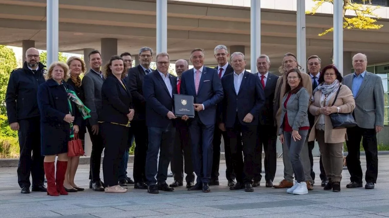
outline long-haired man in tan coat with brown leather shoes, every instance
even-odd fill
[[[277,132],[279,132],[279,127],[282,122],[281,119],[281,107],[282,99],[285,94],[285,86],[286,86],[286,72],[290,69],[300,67],[300,65],[297,62],[296,55],[292,53],[286,53],[284,55],[284,58],[282,60],[282,65],[279,67],[279,71],[282,74],[280,78],[277,80],[277,86],[275,88],[275,95],[274,95],[274,112],[275,118],[276,118],[276,125],[277,125]],[[302,73],[301,74],[303,79],[303,87],[308,90],[308,93],[312,95],[312,81],[308,74]],[[311,96],[310,96],[311,97]],[[284,162],[284,179],[278,184],[274,185],[276,189],[283,189],[283,188],[290,188],[293,186],[293,168],[291,161],[289,159],[289,156],[287,155],[289,153],[289,149],[287,146],[282,145],[282,161]],[[307,180],[307,188],[308,190],[313,189],[313,185],[309,182],[312,180],[312,177],[310,176],[310,161],[308,156],[308,143],[306,142],[304,144],[303,149],[301,150],[301,162],[304,166],[304,174],[305,179]]]

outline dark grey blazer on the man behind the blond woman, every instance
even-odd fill
[[[98,124],[98,117],[103,107],[101,98],[103,82],[101,76],[92,69],[82,78],[82,89],[85,95],[84,104],[91,110],[91,118],[88,119],[90,125]]]

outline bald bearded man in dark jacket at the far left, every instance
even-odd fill
[[[14,69],[9,77],[5,103],[7,117],[12,130],[18,131],[20,156],[18,183],[22,194],[32,191],[46,192],[44,183],[44,156],[40,154],[40,115],[37,92],[45,82],[44,66],[40,63],[39,51],[28,48],[23,68]],[[32,153],[32,155],[31,155]]]

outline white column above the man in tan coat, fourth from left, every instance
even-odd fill
[[[301,72],[306,72],[307,45],[305,36],[305,0],[297,1],[297,61]]]

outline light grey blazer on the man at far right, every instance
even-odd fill
[[[343,77],[342,82],[351,91],[352,80],[354,73]],[[359,127],[373,129],[375,126],[384,126],[384,87],[380,76],[366,71],[354,99],[354,117]]]

